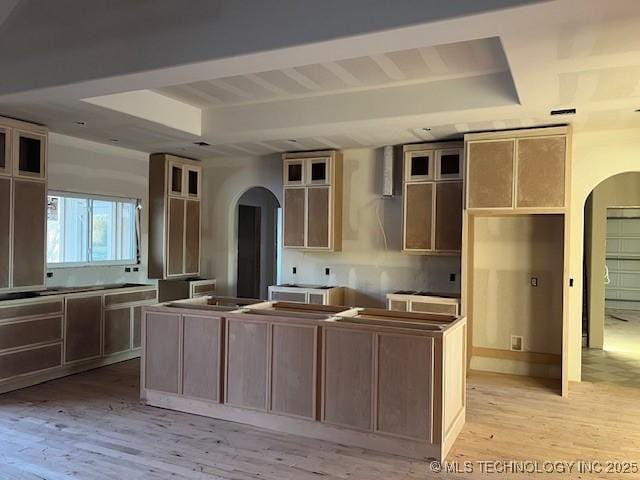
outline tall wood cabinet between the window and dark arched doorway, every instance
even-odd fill
[[[200,273],[202,167],[167,154],[149,159],[149,278]]]

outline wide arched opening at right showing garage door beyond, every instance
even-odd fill
[[[640,388],[640,172],[585,204],[582,378]]]

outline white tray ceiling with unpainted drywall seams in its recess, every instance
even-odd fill
[[[0,114],[89,140],[197,158],[381,146],[567,122],[576,130],[640,127],[639,31],[636,0],[536,2],[0,92]],[[142,103],[136,109],[140,90],[201,109],[201,135],[181,128],[177,111],[168,119],[172,112],[150,113]],[[118,106],[121,98],[83,101],[129,91],[126,109]],[[549,115],[566,107],[577,115]]]

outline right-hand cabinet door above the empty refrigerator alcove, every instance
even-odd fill
[[[516,206],[565,206],[566,137],[518,139]]]

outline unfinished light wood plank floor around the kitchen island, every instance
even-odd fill
[[[0,479],[491,478],[479,466],[433,475],[427,462],[146,407],[138,368],[130,361],[0,396]],[[480,374],[468,386],[450,461],[640,460],[640,390],[585,382],[562,399],[544,381]]]

